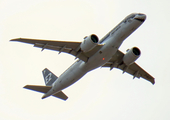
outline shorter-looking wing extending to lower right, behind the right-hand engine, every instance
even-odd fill
[[[142,69],[138,64],[133,63],[129,66],[125,65],[122,62],[123,56],[124,56],[124,53],[118,50],[117,53],[112,57],[112,59],[109,60],[109,62],[107,62],[106,64],[104,64],[102,67],[110,67],[110,69],[118,68],[122,70],[123,73],[127,72],[133,75],[134,78],[142,77],[150,81],[152,84],[155,84],[155,79],[149,73],[147,73],[144,69]]]

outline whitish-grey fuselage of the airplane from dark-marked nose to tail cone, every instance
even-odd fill
[[[104,46],[98,52],[90,57],[87,62],[77,60],[59,76],[53,83],[52,89],[48,91],[45,96],[48,97],[65,89],[78,81],[87,72],[108,62],[117,52],[122,42],[144,22],[145,18],[146,16],[144,14],[131,14],[127,16],[100,40],[100,44],[104,44]]]

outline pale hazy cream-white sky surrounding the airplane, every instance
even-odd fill
[[[168,120],[170,119],[169,0],[1,0],[0,1],[0,120]],[[133,46],[137,63],[155,77],[144,79],[109,68],[86,74],[63,92],[67,101],[23,89],[44,85],[42,70],[57,76],[75,60],[58,52],[9,42],[38,38],[82,41],[102,38],[133,12],[147,15],[145,23],[120,47]]]

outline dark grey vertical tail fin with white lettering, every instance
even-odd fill
[[[54,75],[50,70],[48,70],[47,68],[45,68],[43,71],[43,76],[44,76],[44,81],[46,86],[51,86],[56,80],[57,80],[57,76]]]

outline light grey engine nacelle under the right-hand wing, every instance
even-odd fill
[[[139,48],[133,47],[127,50],[127,53],[123,57],[123,62],[128,66],[134,63],[141,55]]]

